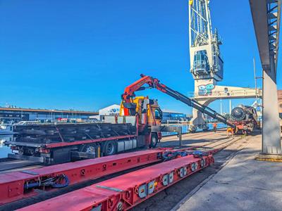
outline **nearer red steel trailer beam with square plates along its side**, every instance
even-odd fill
[[[204,160],[203,165],[201,165],[202,160]],[[203,158],[194,158],[193,155],[188,155],[102,181],[20,210],[129,210],[213,162],[212,155]],[[192,170],[195,163],[197,163],[197,167]],[[185,175],[181,175],[184,169],[187,172]],[[173,174],[173,180],[164,184],[164,178],[168,178],[169,174]],[[146,194],[141,197],[140,193]]]

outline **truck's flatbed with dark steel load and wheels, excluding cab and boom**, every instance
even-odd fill
[[[87,158],[114,155],[149,147],[152,136],[161,132],[151,128],[140,133],[138,116],[108,116],[103,123],[33,124],[15,127],[16,138],[6,141],[12,153],[8,158],[55,165]]]

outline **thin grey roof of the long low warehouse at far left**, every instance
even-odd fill
[[[79,113],[85,115],[98,115],[98,112],[82,111],[82,110],[48,110],[48,109],[33,109],[33,108],[0,108],[0,111],[16,111],[16,112],[44,112],[44,113]]]

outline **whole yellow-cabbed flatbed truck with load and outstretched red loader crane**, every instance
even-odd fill
[[[156,100],[135,96],[135,91],[157,89],[192,108],[235,128],[215,110],[161,84],[158,79],[141,75],[121,96],[121,113],[105,116],[103,123],[33,124],[15,127],[16,139],[6,141],[14,154],[9,158],[56,164],[83,158],[99,158],[140,147],[154,148],[161,140],[162,112]],[[145,85],[147,84],[147,87]]]

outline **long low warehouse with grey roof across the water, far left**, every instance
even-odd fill
[[[0,122],[76,119],[87,120],[97,112],[79,110],[46,110],[32,108],[0,108]]]

